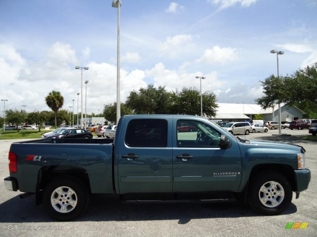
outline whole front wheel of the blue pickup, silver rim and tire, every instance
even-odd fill
[[[277,215],[285,211],[292,201],[292,187],[280,173],[263,172],[249,184],[248,202],[264,215]]]

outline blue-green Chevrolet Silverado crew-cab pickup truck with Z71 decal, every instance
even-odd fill
[[[235,137],[185,115],[126,115],[114,139],[42,139],[13,143],[8,190],[36,195],[47,213],[71,220],[92,193],[127,203],[248,202],[276,215],[308,188],[305,149]]]

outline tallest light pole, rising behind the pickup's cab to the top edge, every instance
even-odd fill
[[[120,111],[120,7],[121,0],[113,0],[112,7],[118,8],[118,37],[117,37],[117,124],[121,117]]]

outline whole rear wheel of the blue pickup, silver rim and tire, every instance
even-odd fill
[[[76,218],[87,208],[88,202],[86,185],[75,177],[57,177],[46,185],[43,193],[46,212],[59,221]]]

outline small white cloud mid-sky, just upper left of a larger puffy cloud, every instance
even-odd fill
[[[175,57],[193,48],[195,48],[195,44],[192,43],[192,36],[190,34],[179,34],[173,37],[167,37],[166,40],[161,43],[161,51],[170,57]]]

